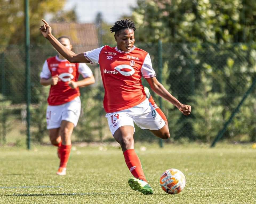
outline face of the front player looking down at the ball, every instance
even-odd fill
[[[115,41],[117,41],[117,48],[124,52],[128,52],[135,42],[133,29],[123,29],[120,34],[115,35]]]

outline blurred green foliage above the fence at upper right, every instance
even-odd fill
[[[256,4],[230,0],[138,0],[139,41],[235,43],[256,39]]]

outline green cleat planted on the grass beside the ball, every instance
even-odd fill
[[[146,182],[135,178],[130,178],[128,184],[131,189],[143,193],[144,195],[153,194],[153,188]]]

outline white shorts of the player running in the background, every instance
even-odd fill
[[[46,111],[47,129],[59,128],[61,121],[66,120],[77,126],[81,111],[80,97],[61,105],[48,105]]]

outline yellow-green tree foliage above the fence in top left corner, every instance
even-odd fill
[[[10,44],[23,44],[25,39],[24,27],[24,2],[23,0],[0,0],[0,46],[4,48]],[[30,0],[30,37],[31,44],[39,42],[45,44],[46,41],[38,35],[38,28],[41,19],[45,14],[56,14],[62,10],[64,1],[58,0]],[[8,32],[7,32],[8,31]],[[40,36],[40,37],[38,37]]]

